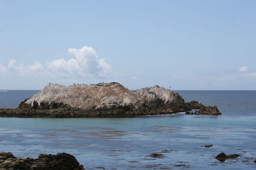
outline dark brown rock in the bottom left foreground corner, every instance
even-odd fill
[[[11,152],[0,152],[0,169],[84,170],[84,167],[83,165],[79,165],[76,158],[68,153],[58,153],[57,155],[40,154],[38,159],[18,159],[14,157]]]

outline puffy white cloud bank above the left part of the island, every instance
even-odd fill
[[[35,61],[25,66],[17,60],[9,60],[8,67],[0,63],[0,75],[11,72],[15,76],[58,76],[65,78],[93,77],[106,78],[111,74],[111,66],[104,58],[99,58],[95,50],[90,46],[83,46],[80,49],[69,48],[70,59],[56,59],[40,63]]]

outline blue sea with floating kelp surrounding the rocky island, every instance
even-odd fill
[[[0,108],[17,108],[36,92],[1,90]],[[222,115],[0,118],[0,152],[20,158],[65,152],[86,169],[256,169],[256,91],[174,92],[218,106]],[[221,152],[241,156],[220,162],[215,157]]]

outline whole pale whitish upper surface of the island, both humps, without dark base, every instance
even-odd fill
[[[120,83],[101,83],[100,85],[70,85],[65,87],[50,83],[44,90],[36,93],[26,101],[26,104],[33,106],[33,102],[63,103],[74,108],[88,110],[102,108],[104,106],[145,103],[161,99],[164,103],[171,103],[177,98],[177,94],[169,89],[155,85],[131,92]]]

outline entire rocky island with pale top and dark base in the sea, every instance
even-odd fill
[[[220,115],[216,106],[185,103],[170,89],[155,85],[131,90],[120,83],[70,85],[49,83],[44,90],[22,101],[17,109],[0,109],[0,117],[137,117],[200,109],[195,114]]]

